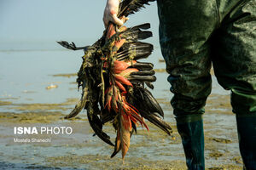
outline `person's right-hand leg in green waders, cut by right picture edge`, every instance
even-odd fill
[[[218,82],[231,89],[242,160],[256,169],[256,1],[242,1],[222,14],[212,62]]]

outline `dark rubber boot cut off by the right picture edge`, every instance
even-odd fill
[[[236,123],[244,169],[256,170],[256,114],[236,115]]]

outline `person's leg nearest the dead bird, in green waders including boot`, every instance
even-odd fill
[[[218,26],[215,0],[158,0],[160,46],[171,104],[189,169],[204,169],[204,134],[201,115],[211,93],[208,39]]]

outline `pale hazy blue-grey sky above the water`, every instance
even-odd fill
[[[0,43],[59,40],[96,42],[106,0],[0,0]],[[156,3],[132,14],[126,26],[150,22],[158,39]]]

